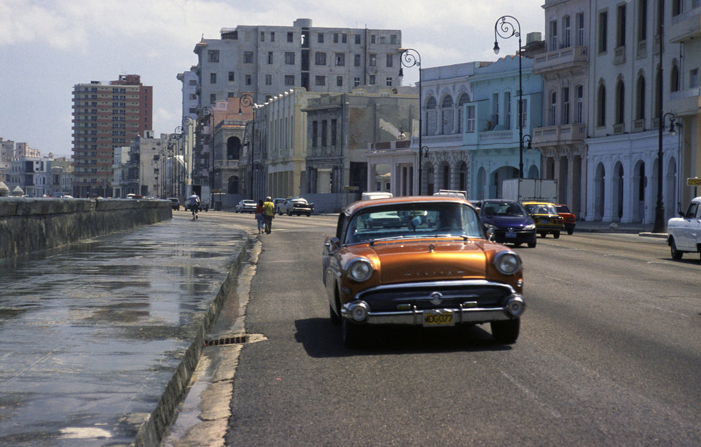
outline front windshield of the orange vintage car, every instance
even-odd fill
[[[368,207],[351,218],[346,243],[446,236],[483,238],[475,211],[468,205],[449,202]]]

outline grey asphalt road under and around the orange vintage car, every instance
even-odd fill
[[[539,238],[517,248],[515,345],[477,326],[376,331],[348,350],[321,282],[334,227],[283,216],[259,236],[245,329],[262,341],[240,350],[227,445],[701,444],[697,256],[638,235]]]

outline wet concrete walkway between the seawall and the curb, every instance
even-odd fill
[[[0,260],[0,446],[134,442],[246,242],[174,213]]]

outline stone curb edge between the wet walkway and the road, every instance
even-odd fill
[[[229,273],[226,275],[226,280],[224,280],[222,286],[219,287],[217,296],[210,302],[198,329],[197,336],[186,352],[184,352],[183,359],[177,369],[175,369],[172,378],[168,380],[168,385],[165,386],[156,409],[137,430],[132,445],[137,447],[158,447],[161,445],[163,435],[167,432],[168,427],[170,427],[177,415],[178,405],[187,394],[188,385],[205,348],[205,336],[217,322],[219,311],[222,310],[226,296],[229,295],[229,290],[231,287],[236,287],[241,263],[248,257],[249,238],[250,236],[247,235],[247,238],[240,245],[240,252],[236,256],[236,260],[231,263]]]

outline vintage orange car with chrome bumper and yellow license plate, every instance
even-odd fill
[[[395,216],[400,225],[369,224]],[[470,202],[449,196],[360,200],[324,244],[323,281],[343,343],[367,326],[435,328],[490,323],[515,343],[525,309],[520,256],[486,238]]]

